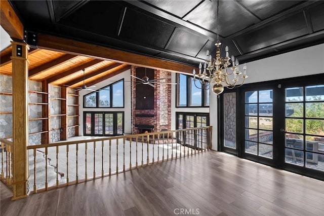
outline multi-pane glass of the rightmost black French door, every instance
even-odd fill
[[[285,162],[324,171],[324,85],[286,88]]]

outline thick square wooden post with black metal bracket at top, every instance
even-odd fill
[[[27,197],[28,177],[28,50],[27,44],[12,42],[13,83],[13,198]]]

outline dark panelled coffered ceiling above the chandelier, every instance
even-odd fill
[[[216,1],[10,3],[35,33],[195,66],[216,51]],[[240,62],[320,44],[323,11],[324,1],[220,1],[220,41]]]

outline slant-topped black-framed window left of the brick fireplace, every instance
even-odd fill
[[[84,96],[84,107],[124,107],[124,80],[98,89]]]

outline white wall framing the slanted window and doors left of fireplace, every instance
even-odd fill
[[[123,73],[120,73],[110,79],[97,83],[95,86],[96,88],[102,88],[107,85],[112,84],[111,81],[118,81],[124,79],[124,108],[84,108],[83,107],[83,96],[89,94],[90,91],[87,90],[80,90],[79,91],[79,135],[83,136],[83,113],[85,111],[103,111],[103,112],[115,112],[115,111],[124,111],[124,132],[125,133],[132,133],[132,115],[131,115],[131,70],[128,69]]]

